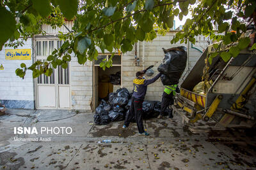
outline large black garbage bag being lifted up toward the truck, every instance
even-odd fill
[[[163,63],[157,68],[161,75],[163,85],[174,85],[179,83],[180,76],[184,72],[187,63],[187,48],[178,46],[164,49]]]

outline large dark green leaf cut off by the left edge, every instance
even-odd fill
[[[3,6],[0,6],[0,16],[0,46],[2,46],[14,34],[16,30],[16,20],[12,13]]]

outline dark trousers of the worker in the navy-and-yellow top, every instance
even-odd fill
[[[143,127],[143,120],[142,120],[142,113],[143,113],[142,103],[143,103],[143,100],[132,97],[132,104],[129,109],[129,113],[126,115],[125,121],[124,121],[124,125],[128,127],[135,114],[135,120],[137,123],[138,131],[140,133],[145,132]]]

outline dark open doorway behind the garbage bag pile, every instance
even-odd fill
[[[114,55],[112,67],[105,70],[100,62],[108,60],[111,54],[99,55],[93,66],[93,110],[99,106],[102,99],[108,99],[108,94],[122,87],[122,55]]]

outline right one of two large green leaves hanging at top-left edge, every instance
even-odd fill
[[[78,10],[78,0],[55,0],[60,6],[60,10],[63,15],[68,19],[72,18],[77,14]]]

